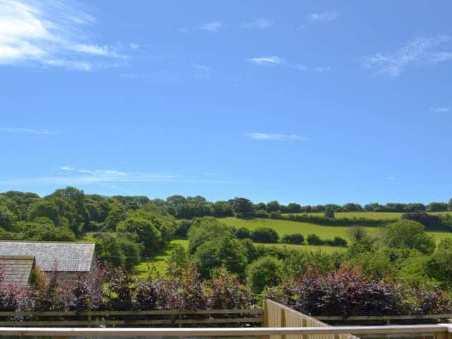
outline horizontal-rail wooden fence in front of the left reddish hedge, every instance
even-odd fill
[[[0,312],[0,327],[260,326],[262,309]]]

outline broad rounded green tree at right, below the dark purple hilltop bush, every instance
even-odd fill
[[[431,254],[435,249],[434,239],[425,232],[424,225],[412,220],[400,220],[386,225],[383,242],[388,247],[417,249],[424,254]]]

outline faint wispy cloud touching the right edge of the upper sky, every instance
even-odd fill
[[[452,37],[448,35],[417,37],[395,52],[382,52],[365,57],[364,66],[375,69],[377,74],[395,78],[409,66],[438,64],[451,60],[451,42]],[[449,50],[439,50],[439,47]]]

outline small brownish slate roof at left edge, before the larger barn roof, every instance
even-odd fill
[[[34,256],[0,256],[1,282],[27,285],[34,264]]]

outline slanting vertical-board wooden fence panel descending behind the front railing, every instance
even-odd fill
[[[263,327],[331,327],[311,316],[266,299],[263,302]],[[359,339],[350,334],[270,335],[270,339]]]

